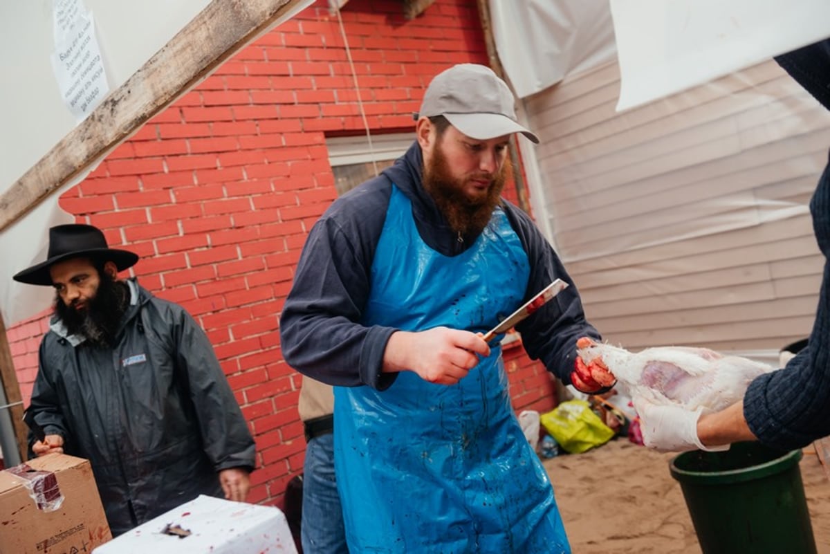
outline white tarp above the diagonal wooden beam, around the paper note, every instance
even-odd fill
[[[208,3],[84,0],[85,9],[95,14],[95,36],[110,90],[123,85]],[[5,84],[0,87],[0,192],[76,126],[51,65],[55,38],[51,0],[0,2],[0,72]]]

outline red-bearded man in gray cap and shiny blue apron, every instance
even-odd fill
[[[514,103],[485,66],[437,75],[416,142],[305,243],[282,349],[334,385],[351,552],[570,552],[510,406],[502,335],[482,338],[559,278],[572,286],[517,326],[526,351],[569,383],[577,338],[599,339],[554,250],[500,197],[510,135],[538,142]]]

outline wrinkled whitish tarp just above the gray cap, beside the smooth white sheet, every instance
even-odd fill
[[[608,2],[490,0],[493,39],[520,98],[612,61]]]

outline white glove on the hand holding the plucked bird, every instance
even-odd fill
[[[655,404],[642,397],[635,398],[633,404],[640,416],[642,442],[648,448],[661,452],[696,449],[720,452],[730,448],[730,445],[704,446],[701,443],[697,436],[697,420],[701,419],[702,407],[688,411],[680,406]]]

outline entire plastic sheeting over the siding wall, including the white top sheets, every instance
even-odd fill
[[[830,2],[490,7],[542,141],[525,152],[537,223],[603,336],[760,358],[808,333],[830,115],[770,58],[830,35]]]

